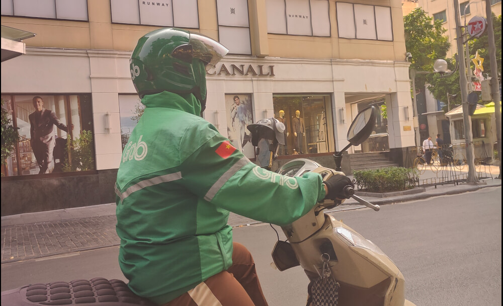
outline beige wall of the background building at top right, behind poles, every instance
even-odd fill
[[[459,0],[459,3],[464,3],[464,0]],[[480,0],[469,0],[470,3],[470,14],[466,14],[466,16],[461,16],[461,24],[465,24],[470,21],[474,16],[485,17],[485,1]],[[451,48],[449,52],[447,52],[448,56],[452,56],[457,53],[456,47],[456,23],[454,21],[454,3],[452,1],[439,1],[439,0],[419,0],[419,6],[428,13],[429,16],[433,17],[434,14],[440,13],[442,11],[446,11],[447,22],[444,23],[444,29],[447,30],[445,35],[449,37],[449,41],[451,42]],[[491,6],[491,10],[494,15],[501,15],[501,2],[498,2]],[[463,12],[460,12],[463,14]]]

